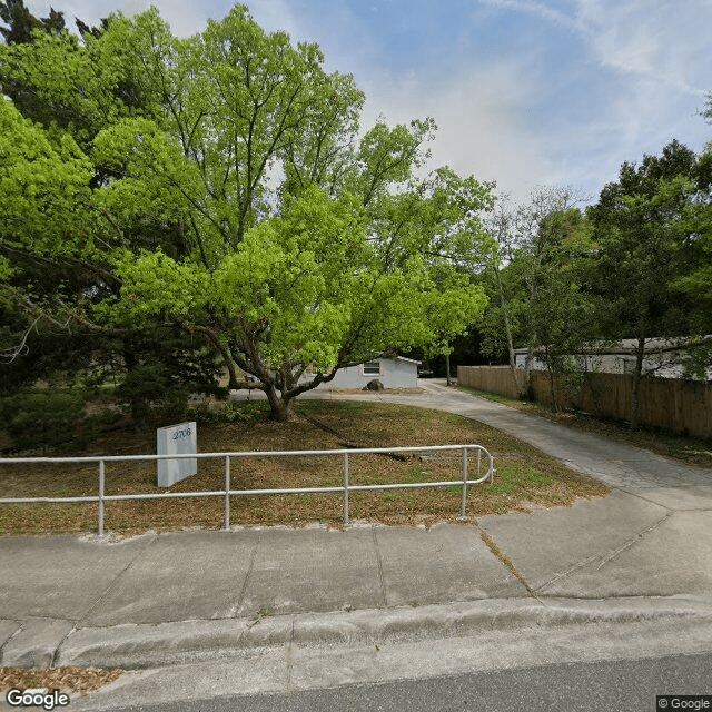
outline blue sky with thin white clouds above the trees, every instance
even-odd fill
[[[53,0],[96,23],[158,7],[174,33],[225,0]],[[366,93],[364,128],[433,117],[429,168],[494,180],[515,202],[540,186],[594,202],[623,161],[672,139],[712,141],[712,0],[253,0],[265,30],[315,41],[325,69]],[[49,3],[28,1],[44,17]]]

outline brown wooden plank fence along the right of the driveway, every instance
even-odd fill
[[[518,370],[524,379],[524,370]],[[518,397],[508,366],[458,366],[461,386]],[[583,374],[554,377],[560,407],[621,421],[631,418],[632,377],[623,374]],[[532,370],[528,397],[552,404],[550,375]],[[645,377],[641,382],[641,423],[673,433],[712,437],[712,387],[675,378]]]

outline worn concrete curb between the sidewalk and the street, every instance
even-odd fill
[[[712,623],[712,599],[502,599],[257,620],[126,624],[75,629],[55,651],[53,666],[140,670],[287,644],[308,647],[398,643],[517,629],[682,620]],[[12,661],[3,654],[2,664],[11,666]]]

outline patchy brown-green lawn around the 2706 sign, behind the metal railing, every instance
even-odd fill
[[[495,458],[494,484],[473,486],[467,495],[471,517],[535,507],[571,505],[580,497],[605,496],[600,482],[582,476],[521,441],[486,425],[442,413],[389,404],[301,400],[288,423],[267,419],[266,404],[246,403],[234,422],[198,424],[199,452],[329,449],[345,446],[483,445]],[[234,408],[235,406],[233,406]],[[154,427],[130,427],[101,435],[81,451],[62,455],[131,455],[156,452]],[[414,454],[395,459],[358,455],[350,459],[350,484],[454,481],[462,477],[462,457],[447,453]],[[483,461],[483,466],[486,461]],[[342,457],[281,457],[233,461],[233,488],[339,486]],[[0,497],[96,495],[98,465],[0,465]],[[471,456],[471,479],[476,459]],[[483,469],[483,474],[484,474]],[[156,486],[156,463],[107,463],[106,494],[217,491],[225,486],[222,459],[198,461],[198,474],[168,490]],[[350,517],[390,525],[432,526],[455,522],[459,487],[354,492]],[[220,528],[224,500],[109,502],[106,530],[137,534],[148,530]],[[231,498],[231,524],[303,526],[322,522],[339,527],[340,494],[265,495]],[[472,518],[471,518],[472,523]],[[0,535],[97,531],[96,504],[0,505]]]

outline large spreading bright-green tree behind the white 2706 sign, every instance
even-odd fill
[[[2,48],[3,86],[32,88],[3,101],[7,150],[42,148],[4,169],[2,268],[61,258],[90,280],[6,295],[107,332],[199,335],[277,419],[340,367],[462,333],[486,301],[461,264],[488,186],[415,178],[431,120],[359,138],[364,96],[323,61],[243,6],[188,39],[150,10]]]

